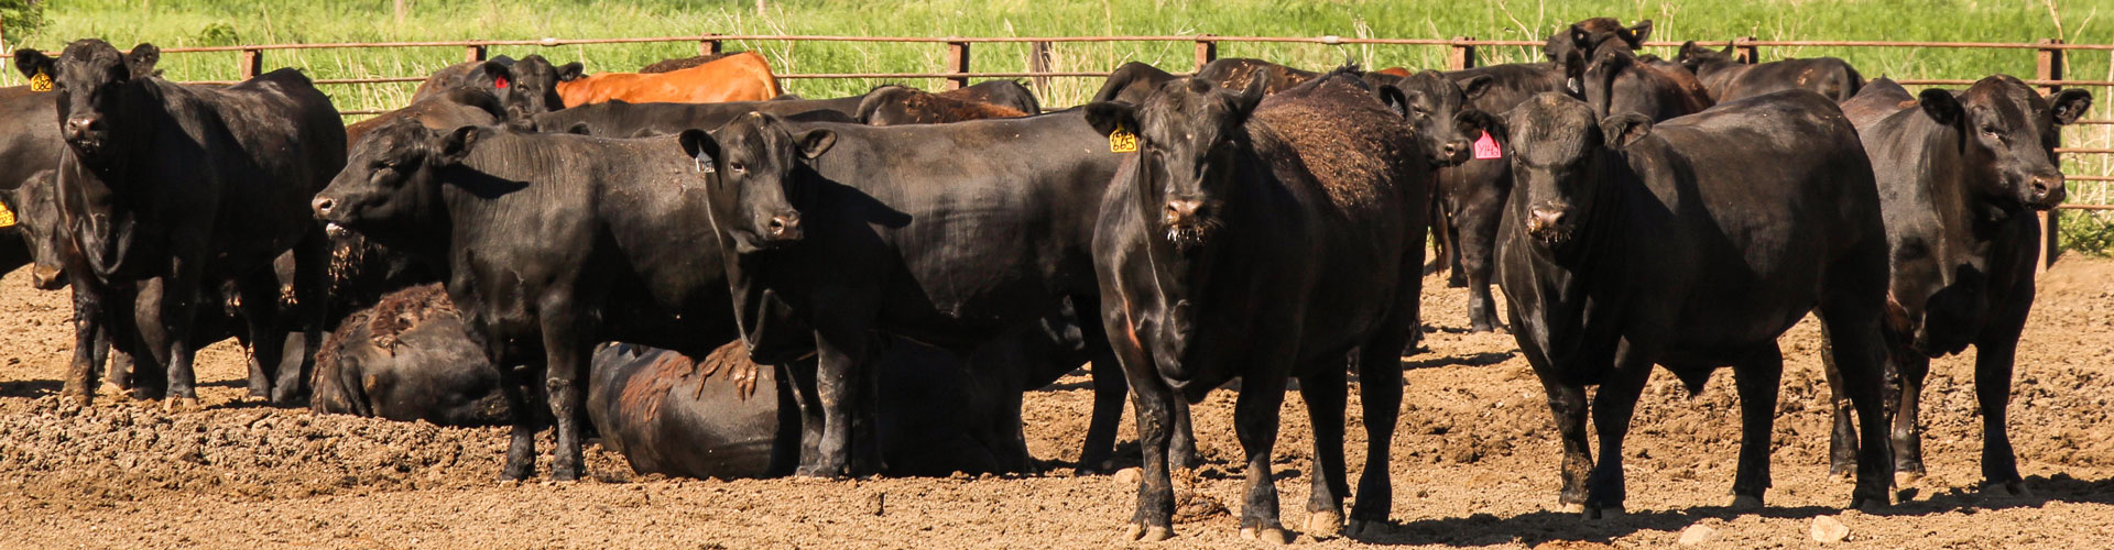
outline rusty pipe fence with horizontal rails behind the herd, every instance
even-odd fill
[[[725,42],[894,42],[894,44],[943,44],[947,53],[934,72],[808,72],[776,74],[786,80],[801,78],[943,78],[945,89],[966,87],[970,78],[1036,78],[1044,87],[1046,78],[1101,78],[1106,72],[1057,72],[1049,70],[1049,47],[1070,42],[1192,42],[1197,47],[1194,68],[1218,59],[1218,44],[1391,44],[1391,47],[1446,47],[1446,68],[1476,68],[1478,47],[1541,47],[1543,40],[1476,40],[1454,38],[1355,38],[1355,36],[810,36],[810,34],[696,34],[696,36],[636,36],[636,38],[537,38],[537,40],[414,40],[414,42],[319,42],[319,44],[239,44],[239,47],[175,47],[163,53],[237,53],[243,78],[264,70],[266,51],[311,51],[311,49],[463,49],[465,61],[486,59],[490,47],[577,47],[577,44],[651,44],[651,42],[696,42],[698,53],[721,53]],[[970,70],[972,44],[1032,44],[1027,72],[975,72]],[[1645,42],[1645,47],[1681,47],[1683,42]],[[1761,61],[1763,47],[1831,47],[1831,49],[2008,49],[2034,51],[2034,78],[2021,78],[2040,93],[2055,93],[2063,87],[2099,87],[2114,91],[2114,80],[2072,80],[2063,76],[2065,53],[2110,51],[2114,44],[2067,44],[2063,40],[2036,42],[1903,42],[1903,40],[1761,40],[1755,36],[1733,40],[1695,40],[1704,47],[1731,47],[1733,57],[1744,63]],[[57,55],[57,53],[53,53]],[[15,57],[11,51],[0,57]],[[385,78],[319,78],[317,85],[397,85],[421,82],[427,76],[385,76]],[[192,80],[233,85],[233,80]],[[1966,78],[1896,78],[1907,87],[1958,87],[1972,85]],[[2106,102],[2108,95],[2101,95]],[[345,116],[381,114],[385,110],[342,110]],[[2114,118],[2078,121],[2078,125],[2114,125]],[[2114,148],[2055,148],[2063,154],[2114,154]],[[2114,176],[2067,176],[2074,182],[2114,182]],[[2110,212],[2114,205],[2059,205],[2061,209]],[[2044,264],[2055,260],[2055,231],[2059,216],[2044,218]]]

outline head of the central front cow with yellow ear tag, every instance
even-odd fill
[[[1209,80],[1158,85],[1139,106],[1087,104],[1087,123],[1101,133],[1137,135],[1142,212],[1156,218],[1175,248],[1207,243],[1222,226],[1228,154],[1247,142],[1247,116],[1262,104],[1268,78],[1228,91]]]

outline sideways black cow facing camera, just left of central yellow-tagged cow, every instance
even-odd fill
[[[1087,239],[1118,157],[1076,110],[793,131],[755,114],[685,131],[683,146],[740,180],[715,188],[712,224],[750,353],[820,353],[822,434],[801,474],[873,470],[871,332],[968,353],[1063,298],[1099,311]],[[1095,372],[1114,372],[1099,326],[1084,326]]]

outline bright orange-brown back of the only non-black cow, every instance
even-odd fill
[[[564,106],[624,99],[632,104],[721,104],[778,97],[778,78],[753,51],[660,74],[605,72],[558,82]]]

